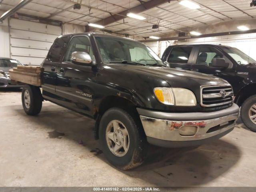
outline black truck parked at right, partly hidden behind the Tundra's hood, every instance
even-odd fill
[[[237,48],[197,44],[168,46],[162,60],[171,68],[191,70],[227,80],[233,87],[234,102],[241,107],[244,124],[256,132],[256,61]],[[222,97],[219,92],[216,98]],[[212,97],[212,99],[215,99]],[[225,104],[223,99],[223,104]]]

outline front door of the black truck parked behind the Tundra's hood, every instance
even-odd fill
[[[195,47],[195,56],[192,61],[191,70],[217,76],[232,82],[235,78],[232,62],[222,54],[220,50],[212,46]],[[224,58],[230,65],[228,68],[213,67],[212,60],[214,58]]]

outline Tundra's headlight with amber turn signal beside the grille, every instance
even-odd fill
[[[156,87],[154,94],[159,102],[175,106],[196,106],[196,96],[188,89]]]

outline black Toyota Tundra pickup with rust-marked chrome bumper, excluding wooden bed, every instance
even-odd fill
[[[228,82],[168,68],[149,47],[128,38],[60,36],[41,66],[42,94],[36,86],[23,88],[25,112],[38,114],[48,100],[93,118],[95,138],[120,169],[140,165],[148,143],[198,146],[228,134],[238,118]],[[225,102],[214,98],[220,90],[226,90]]]

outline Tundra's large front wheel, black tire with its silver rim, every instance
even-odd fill
[[[102,151],[114,166],[129,170],[143,163],[148,143],[136,116],[120,108],[107,110],[99,126]]]

